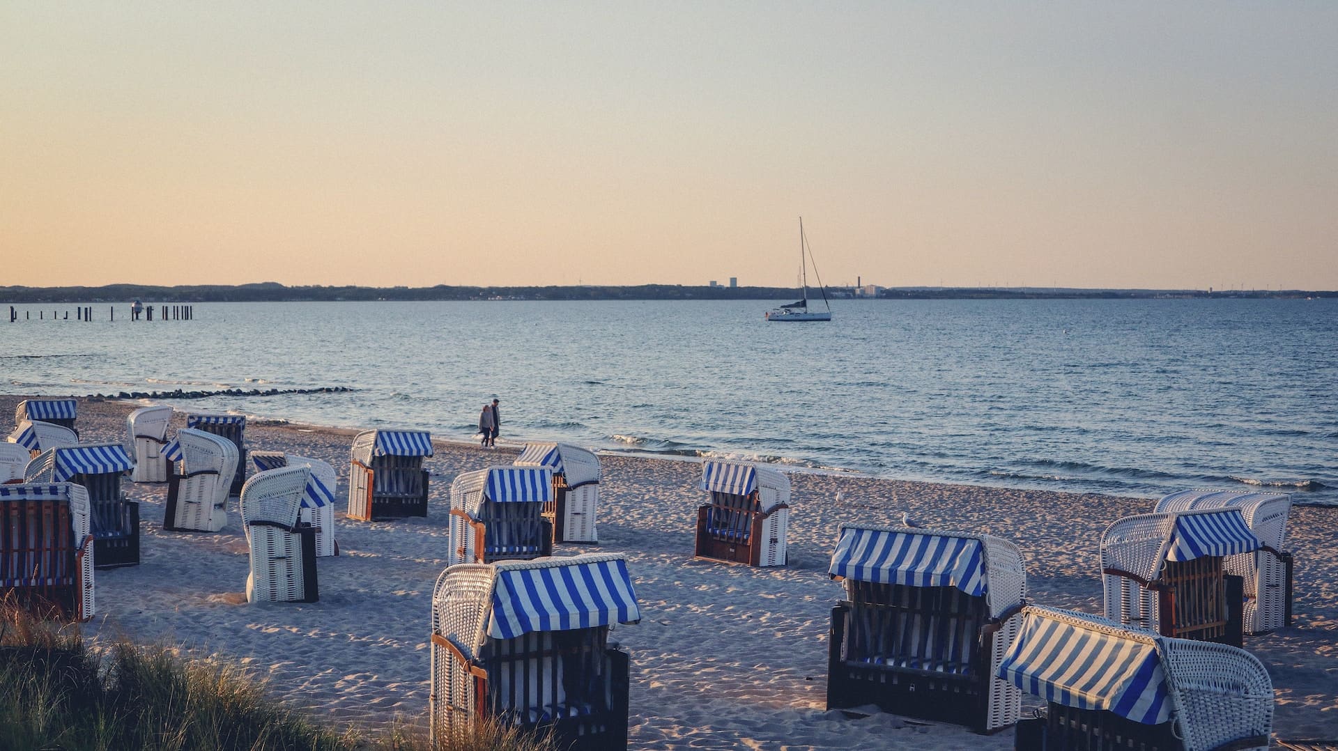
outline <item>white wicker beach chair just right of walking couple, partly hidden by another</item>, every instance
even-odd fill
[[[570,443],[526,443],[518,467],[553,470],[553,501],[543,518],[553,525],[554,542],[598,542],[599,458]]]

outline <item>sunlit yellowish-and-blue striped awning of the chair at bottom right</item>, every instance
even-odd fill
[[[1156,647],[1028,612],[998,677],[1048,701],[1143,724],[1171,718]]]

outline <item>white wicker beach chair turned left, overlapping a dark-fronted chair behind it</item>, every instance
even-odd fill
[[[227,495],[237,473],[237,446],[211,432],[181,428],[163,452],[173,462],[163,529],[218,531],[227,526]]]

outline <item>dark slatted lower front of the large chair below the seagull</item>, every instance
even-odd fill
[[[1002,649],[995,635],[1022,604],[991,618],[985,597],[954,586],[847,584],[854,598],[832,608],[827,708],[876,704],[898,715],[986,732],[994,680],[990,664]],[[929,632],[974,647],[955,656],[923,655],[923,639],[915,636]]]

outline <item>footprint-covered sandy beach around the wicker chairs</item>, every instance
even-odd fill
[[[12,414],[19,399],[0,398],[0,414]],[[80,400],[82,438],[123,440],[124,416],[138,406]],[[183,424],[183,412],[175,423]],[[250,450],[320,458],[340,473],[341,556],[320,560],[320,602],[246,602],[248,548],[235,501],[221,533],[163,531],[166,486],[127,481],[128,495],[140,502],[142,564],[98,572],[98,616],[84,633],[124,633],[234,659],[266,677],[274,695],[339,724],[420,724],[451,481],[508,465],[515,448],[436,442],[436,455],[425,462],[428,517],[367,523],[344,518],[352,431],[252,423],[246,439]],[[1032,601],[1100,612],[1101,530],[1153,505],[792,473],[789,565],[753,569],[693,560],[692,530],[704,499],[698,463],[601,459],[601,544],[559,545],[555,553],[628,558],[642,621],[618,627],[613,639],[632,655],[630,744],[637,748],[1012,748],[1012,731],[979,736],[884,714],[848,719],[826,711],[828,621],[842,598],[827,576],[838,525],[896,523],[904,511],[922,526],[1005,537],[1024,550]],[[1247,636],[1246,648],[1272,676],[1276,738],[1338,739],[1338,509],[1297,506],[1288,531],[1295,625]]]

